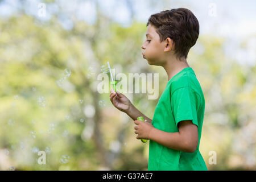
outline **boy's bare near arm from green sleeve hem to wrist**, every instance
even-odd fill
[[[179,132],[176,133],[153,128],[148,139],[174,150],[195,152],[198,144],[197,126],[191,120],[186,120],[179,122],[178,128]]]

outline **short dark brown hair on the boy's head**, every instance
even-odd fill
[[[152,14],[147,26],[149,24],[156,28],[160,42],[172,39],[176,56],[187,59],[189,49],[196,44],[199,36],[199,22],[190,10],[179,8]]]

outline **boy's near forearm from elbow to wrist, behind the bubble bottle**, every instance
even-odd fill
[[[148,139],[162,144],[163,146],[166,146],[168,148],[172,148],[174,150],[192,152],[188,149],[188,144],[186,143],[186,140],[183,136],[181,136],[179,132],[168,133],[166,131],[153,128],[150,131]]]

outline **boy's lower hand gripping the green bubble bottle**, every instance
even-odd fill
[[[134,133],[138,134],[137,139],[149,139],[150,131],[154,129],[154,126],[150,122],[147,122],[147,120],[145,122],[135,120],[134,123],[136,124],[134,126]]]

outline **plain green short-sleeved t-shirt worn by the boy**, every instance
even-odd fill
[[[175,133],[179,132],[177,123],[192,120],[192,123],[198,128],[199,143],[195,152],[188,153],[165,147],[150,140],[148,171],[207,171],[207,166],[199,151],[204,106],[204,94],[191,67],[184,68],[168,81],[156,105],[152,125],[156,129]]]

